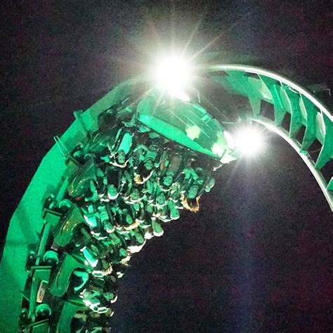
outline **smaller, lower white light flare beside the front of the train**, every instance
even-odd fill
[[[265,148],[264,138],[258,129],[243,128],[235,133],[235,145],[244,155],[256,155]]]

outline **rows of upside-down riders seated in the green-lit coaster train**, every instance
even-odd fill
[[[215,161],[200,160],[151,131],[129,107],[106,110],[98,125],[67,159],[75,167],[65,201],[79,208],[84,223],[74,229],[66,250],[72,247],[89,263],[89,270],[76,269],[70,278],[68,292],[90,309],[74,315],[74,332],[85,332],[91,322],[99,324],[89,332],[102,329],[132,254],[161,236],[162,224],[178,219],[180,209],[198,211],[202,192],[214,185]]]

